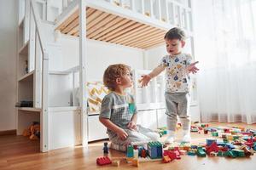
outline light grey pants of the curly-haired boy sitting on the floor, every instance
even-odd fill
[[[124,130],[128,134],[127,139],[121,140],[119,139],[119,136],[115,134],[113,136],[109,135],[109,140],[113,144],[119,144],[119,145],[127,145],[127,144],[131,144],[131,142],[160,140],[159,133],[155,133],[153,130],[146,127],[142,127],[140,125],[137,125],[137,131],[130,130],[130,129],[124,129]]]

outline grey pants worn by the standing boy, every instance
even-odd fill
[[[175,131],[177,124],[177,116],[179,116],[183,130],[190,128],[189,115],[189,93],[167,93],[166,97],[166,115],[168,130]]]

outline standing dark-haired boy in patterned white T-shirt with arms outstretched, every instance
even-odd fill
[[[190,142],[190,116],[189,116],[189,72],[196,73],[198,69],[195,62],[191,64],[190,54],[182,53],[185,45],[185,33],[180,28],[174,27],[166,33],[166,50],[168,55],[163,57],[160,65],[154,68],[148,75],[144,75],[143,86],[166,70],[166,115],[168,136],[166,143],[174,141],[177,116],[179,116],[183,127],[183,142]]]

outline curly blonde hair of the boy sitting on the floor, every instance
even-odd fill
[[[127,71],[131,71],[131,67],[124,64],[109,65],[104,71],[103,82],[104,85],[111,91],[116,88],[116,79],[124,76]]]

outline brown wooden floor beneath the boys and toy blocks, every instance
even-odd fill
[[[212,127],[218,126],[243,126],[256,129],[256,124],[246,125],[244,123],[211,123]],[[178,132],[177,136],[179,135]],[[192,143],[198,144],[205,142],[210,138],[206,134],[192,133]],[[103,155],[103,141],[89,144],[86,149],[82,146],[69,147],[61,150],[51,150],[47,153],[39,152],[38,141],[31,141],[22,136],[0,136],[0,170],[5,169],[137,169],[130,164],[121,161],[120,167],[111,165],[99,167],[96,166],[96,158]],[[110,157],[122,158],[124,153],[110,150]],[[173,169],[173,170],[255,170],[256,155],[246,158],[225,158],[225,157],[198,157],[182,156],[181,160],[175,160],[170,163],[161,163],[160,161],[143,162],[138,169]]]

